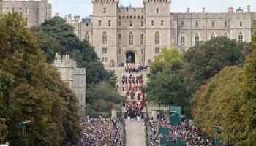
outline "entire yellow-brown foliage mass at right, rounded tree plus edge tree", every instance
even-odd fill
[[[226,67],[201,86],[192,98],[192,115],[197,128],[214,137],[212,126],[221,126],[225,144],[256,145],[255,43],[256,34],[244,67]]]

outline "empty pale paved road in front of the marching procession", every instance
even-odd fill
[[[145,127],[143,120],[138,121],[126,120],[127,127],[127,146],[146,146]]]

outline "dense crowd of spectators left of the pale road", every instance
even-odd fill
[[[80,127],[79,146],[112,146],[117,141],[111,119],[84,117],[80,119]]]

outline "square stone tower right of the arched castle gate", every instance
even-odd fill
[[[146,64],[170,46],[170,0],[143,0],[146,11]]]

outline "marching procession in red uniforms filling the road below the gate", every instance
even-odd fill
[[[128,118],[138,118],[140,120],[140,112],[146,106],[145,91],[143,89],[143,75],[129,76],[124,75],[121,78],[122,91],[127,97],[127,102],[123,104],[128,112]]]

